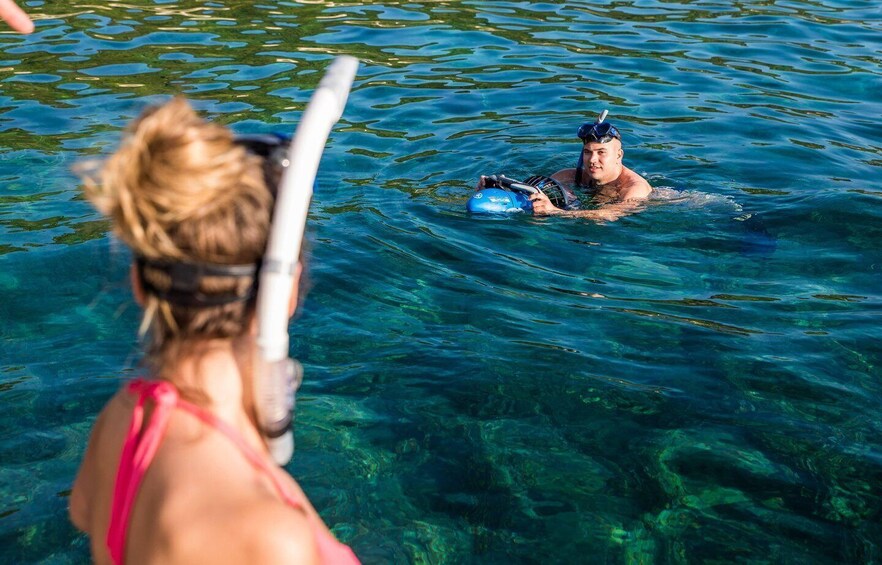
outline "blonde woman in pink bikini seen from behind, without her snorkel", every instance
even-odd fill
[[[70,498],[96,563],[357,563],[255,419],[259,262],[278,169],[182,99],[146,111],[85,191],[133,252],[148,379],[102,410]],[[297,306],[295,274],[289,316]]]

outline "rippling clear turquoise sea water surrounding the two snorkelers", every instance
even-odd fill
[[[366,563],[882,561],[882,11],[739,2],[31,2],[0,34],[0,561],[82,563],[70,483],[139,371],[70,167],[183,93],[319,173],[288,466]],[[665,198],[478,219],[603,108]]]

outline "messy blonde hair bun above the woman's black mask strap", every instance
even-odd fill
[[[183,98],[135,120],[97,178],[86,179],[85,191],[126,243],[152,258],[238,261],[236,202],[257,199],[258,209],[268,208],[261,160]],[[218,230],[233,241],[212,237]]]

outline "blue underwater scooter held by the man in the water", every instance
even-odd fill
[[[484,178],[484,188],[475,192],[466,210],[471,214],[513,214],[532,212],[530,195],[542,192],[558,208],[571,209],[578,203],[575,196],[551,177],[534,175],[524,181],[505,175]]]

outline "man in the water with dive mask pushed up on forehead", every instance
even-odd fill
[[[565,186],[587,187],[599,207],[594,210],[562,210],[539,192],[530,196],[534,214],[612,222],[637,211],[652,192],[646,179],[622,163],[625,154],[622,136],[614,125],[603,121],[605,117],[606,110],[596,122],[585,123],[579,128],[578,136],[583,146],[576,168],[563,169],[551,176]]]

